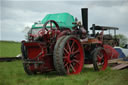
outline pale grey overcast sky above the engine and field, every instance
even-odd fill
[[[1,0],[0,40],[21,41],[23,30],[46,14],[68,12],[81,21],[81,8],[89,10],[89,27],[92,24],[115,26],[117,33],[128,36],[128,0]]]

